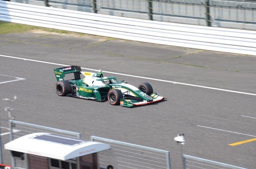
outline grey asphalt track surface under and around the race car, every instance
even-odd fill
[[[229,146],[256,137],[256,56],[26,32],[0,35],[0,63],[1,133],[9,128],[4,107],[11,107],[17,121],[170,151],[172,169],[182,168],[181,153],[256,168],[256,141]],[[53,69],[61,65],[102,69],[134,86],[149,82],[167,100],[127,108],[59,97]],[[14,95],[12,104],[2,100]],[[173,138],[182,133],[181,147]],[[9,134],[1,137],[3,147]],[[9,151],[3,163],[11,163]]]

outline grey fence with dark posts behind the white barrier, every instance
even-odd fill
[[[256,30],[254,1],[223,0],[8,0],[138,19]]]

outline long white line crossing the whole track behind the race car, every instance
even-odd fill
[[[24,61],[32,61],[32,62],[40,62],[40,63],[52,64],[52,65],[59,65],[59,66],[70,66],[70,65],[63,65],[63,64],[57,64],[57,63],[51,63],[51,62],[37,61],[37,60],[31,60],[31,59],[20,58],[20,57],[13,57],[13,56],[6,56],[6,55],[0,55],[0,56],[2,56],[2,57],[9,57],[9,58],[15,58],[15,59],[21,59],[21,60],[24,60]],[[97,69],[89,69],[89,68],[83,68],[83,67],[81,67],[81,69],[98,71]],[[130,76],[130,77],[135,77],[135,78],[156,80],[156,81],[161,81],[161,82],[168,82],[168,83],[173,83],[173,84],[182,84],[182,85],[187,85],[187,86],[195,86],[195,87],[201,87],[201,88],[207,88],[207,89],[214,89],[214,90],[221,90],[221,91],[228,91],[228,92],[234,92],[234,93],[239,93],[239,94],[246,94],[246,95],[256,96],[256,94],[246,93],[246,92],[241,92],[241,91],[226,90],[226,89],[220,89],[220,88],[214,88],[214,87],[207,87],[207,86],[193,85],[193,84],[187,84],[187,83],[173,82],[173,81],[168,81],[168,80],[147,78],[147,77],[141,77],[141,76],[130,75],[130,74],[123,74],[123,73],[116,73],[116,72],[109,72],[109,71],[102,71],[102,72],[112,73],[112,74],[119,74],[119,75],[125,75],[125,76]]]

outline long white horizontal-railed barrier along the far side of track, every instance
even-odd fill
[[[256,55],[256,31],[133,19],[1,0],[0,20],[147,43]]]

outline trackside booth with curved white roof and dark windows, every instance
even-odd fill
[[[17,160],[27,155],[28,169],[98,169],[97,152],[111,147],[97,141],[32,133],[6,143],[4,148]]]

